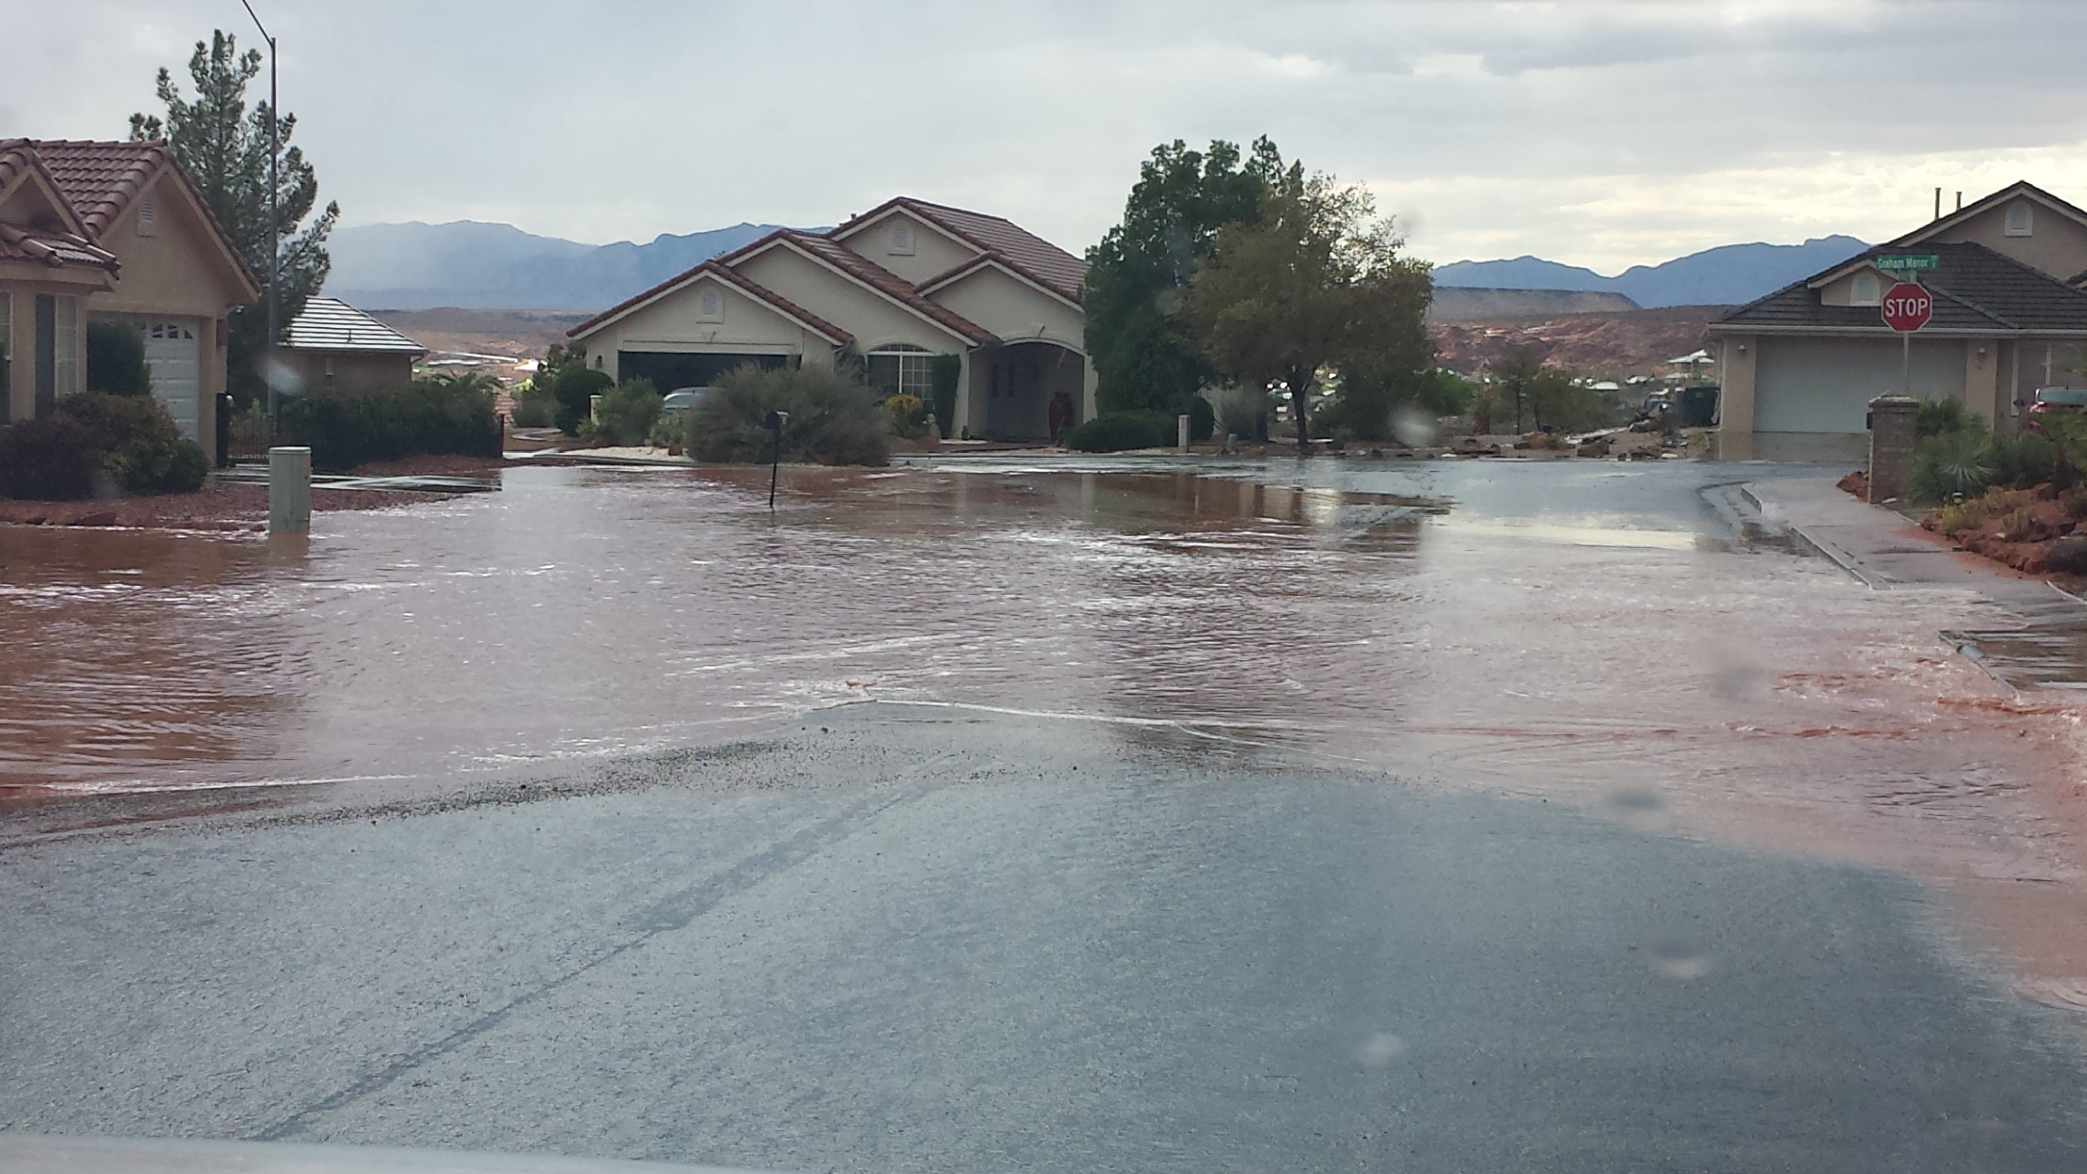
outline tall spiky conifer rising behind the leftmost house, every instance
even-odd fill
[[[275,125],[275,146],[282,152],[275,159],[275,234],[269,236],[271,111],[265,100],[246,109],[246,84],[259,73],[259,50],[240,52],[232,33],[213,31],[211,44],[196,42],[196,52],[188,58],[196,96],[184,98],[173,73],[161,69],[159,100],[167,113],[131,115],[131,140],[167,140],[263,288],[269,257],[278,257],[275,320],[278,330],[286,332],[290,320],[303,313],[305,301],[326,284],[332,267],[326,236],[340,217],[340,205],[328,203],[313,215],[319,203],[319,178],[305,150],[290,146],[296,115],[282,115]],[[240,401],[253,399],[263,389],[257,359],[267,345],[265,301],[232,318],[227,376]]]

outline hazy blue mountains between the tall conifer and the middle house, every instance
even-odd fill
[[[511,224],[365,224],[334,230],[326,292],[361,309],[605,309],[772,232],[735,224],[651,244],[578,244]]]

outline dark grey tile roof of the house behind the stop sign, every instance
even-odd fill
[[[1941,265],[1920,276],[1935,295],[1935,315],[1926,330],[1981,332],[1981,334],[2087,334],[2087,292],[2081,292],[2049,274],[2004,257],[1985,244],[1926,244],[1928,253],[1941,257]],[[1878,246],[1864,253],[1876,257],[1893,246]],[[1745,328],[1830,328],[1830,330],[1876,330],[1882,336],[1891,328],[1882,324],[1874,305],[1822,305],[1820,290],[1809,282],[1826,274],[1845,269],[1843,261],[1805,282],[1784,286],[1759,301],[1743,305],[1711,322],[1711,330],[1736,332]]]

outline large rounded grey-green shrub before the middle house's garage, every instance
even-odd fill
[[[766,462],[774,439],[766,426],[770,412],[789,412],[781,460],[891,460],[891,416],[851,370],[751,363],[718,376],[714,391],[689,409],[689,455],[703,462]]]

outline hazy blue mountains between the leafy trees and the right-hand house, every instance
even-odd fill
[[[1663,265],[1632,265],[1613,278],[1542,257],[1455,261],[1438,265],[1434,278],[1436,286],[1620,292],[1645,309],[1743,305],[1839,265],[1864,249],[1868,244],[1853,236],[1818,236],[1803,244],[1720,244]]]

